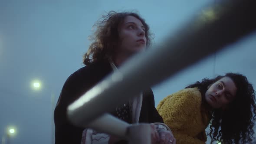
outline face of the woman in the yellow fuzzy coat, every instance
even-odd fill
[[[205,100],[212,108],[226,108],[236,96],[236,85],[229,77],[223,77],[210,85]]]

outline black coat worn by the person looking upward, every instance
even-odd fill
[[[97,62],[85,66],[69,76],[54,111],[55,144],[81,144],[82,131],[85,128],[74,126],[68,121],[67,106],[111,72],[112,67],[108,62]],[[139,122],[163,122],[154,107],[154,95],[150,88],[143,92]]]

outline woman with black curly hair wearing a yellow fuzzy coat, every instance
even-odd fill
[[[189,85],[164,98],[157,109],[177,144],[204,144],[208,124],[211,142],[245,144],[253,140],[255,92],[238,73]]]

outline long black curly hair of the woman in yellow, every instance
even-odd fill
[[[236,97],[225,110],[214,109],[211,111],[210,122],[211,142],[220,141],[222,144],[238,144],[253,141],[253,126],[256,120],[255,92],[253,85],[247,78],[239,73],[226,73],[215,79],[205,78],[202,82],[196,82],[186,88],[199,88],[203,95],[202,104],[206,103],[204,95],[208,86],[223,77],[229,77],[236,85]],[[220,130],[219,130],[220,129]]]

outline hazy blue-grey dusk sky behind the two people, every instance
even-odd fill
[[[218,0],[0,0],[0,135],[14,127],[12,144],[52,143],[52,102],[83,66],[92,25],[105,12],[137,10],[157,48],[207,3]],[[226,72],[240,72],[255,85],[255,46],[254,33],[154,86],[156,105],[188,84]],[[41,83],[37,90],[34,81]]]

